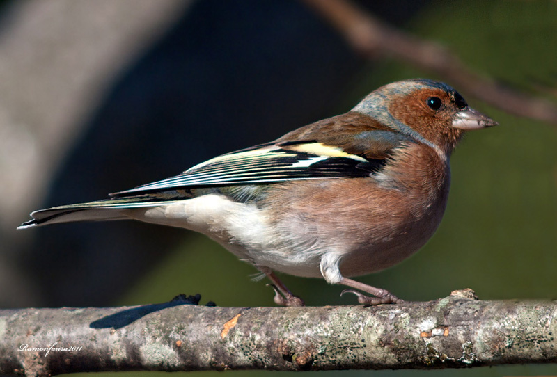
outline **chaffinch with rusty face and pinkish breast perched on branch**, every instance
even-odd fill
[[[107,200],[34,211],[19,229],[130,218],[184,227],[267,275],[278,305],[304,302],[273,271],[343,284],[359,303],[399,303],[350,277],[393,266],[430,239],[457,141],[496,124],[445,83],[398,81],[343,115]]]

